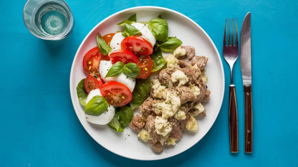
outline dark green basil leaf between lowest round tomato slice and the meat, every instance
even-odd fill
[[[136,79],[136,86],[132,92],[132,99],[129,102],[131,109],[139,107],[150,95],[150,77]]]

